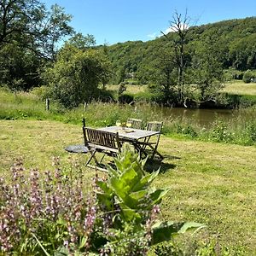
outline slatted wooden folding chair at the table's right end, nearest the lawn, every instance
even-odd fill
[[[146,126],[146,130],[147,131],[160,131],[161,132],[162,126],[163,126],[163,122],[152,121],[152,122],[148,122],[148,124]],[[160,141],[160,133],[158,135],[154,136],[154,137],[148,137],[148,139],[143,142],[144,143],[144,145],[143,145],[144,149],[149,147],[153,151],[151,159],[154,158],[154,154],[158,154],[160,156],[161,160],[164,159],[164,157],[157,151],[159,141]]]

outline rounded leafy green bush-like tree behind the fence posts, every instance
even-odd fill
[[[66,44],[54,67],[44,73],[53,98],[66,108],[77,107],[96,97],[98,85],[106,82],[109,62],[97,49],[78,49]]]

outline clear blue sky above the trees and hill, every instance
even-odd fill
[[[92,34],[96,44],[148,41],[166,31],[172,15],[184,14],[196,25],[256,16],[256,0],[43,0],[73,15],[76,32]]]

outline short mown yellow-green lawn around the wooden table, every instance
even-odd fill
[[[26,167],[42,171],[52,169],[53,156],[61,156],[64,165],[70,158],[77,159],[83,168],[87,155],[68,154],[63,149],[82,142],[79,125],[0,120],[1,175],[8,177],[18,156]],[[160,153],[165,160],[155,185],[171,188],[162,202],[162,217],[207,224],[207,230],[197,236],[232,248],[234,255],[246,251],[255,255],[256,147],[161,137]],[[84,178],[93,176],[93,170],[84,168]]]

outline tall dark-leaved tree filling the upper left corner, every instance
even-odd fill
[[[13,90],[40,84],[45,63],[54,61],[57,45],[73,28],[71,15],[38,0],[6,0],[0,3],[0,83]]]

